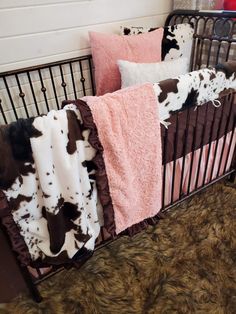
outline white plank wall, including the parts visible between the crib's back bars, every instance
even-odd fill
[[[90,53],[88,31],[119,33],[120,25],[144,27],[162,26],[172,9],[172,0],[0,0],[0,72],[77,57]],[[88,65],[83,64],[85,77]],[[55,84],[61,102],[65,96],[61,87],[59,69],[54,69]],[[65,66],[65,80],[71,80]],[[73,67],[78,97],[82,96],[78,65]],[[42,73],[50,109],[56,109],[48,71]],[[36,115],[32,92],[26,75],[19,76],[30,115]],[[37,73],[31,79],[37,87],[40,113],[46,112],[45,101]],[[18,117],[26,117],[16,78],[10,77]],[[68,84],[68,98],[74,99]],[[91,84],[86,80],[86,92]],[[0,78],[0,100],[7,121],[16,119],[4,81]],[[0,113],[0,124],[4,123]]]

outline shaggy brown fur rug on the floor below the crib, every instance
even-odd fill
[[[97,251],[5,313],[236,313],[236,189],[216,184],[154,227]]]

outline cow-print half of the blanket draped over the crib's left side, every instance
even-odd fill
[[[68,105],[2,132],[0,189],[32,260],[68,262],[80,252],[91,253],[102,218],[92,162],[96,151],[79,111]]]

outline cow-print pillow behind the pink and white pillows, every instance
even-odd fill
[[[121,26],[121,35],[138,35],[157,28]],[[194,28],[192,24],[176,24],[164,27],[162,39],[162,60],[186,57],[190,63]]]

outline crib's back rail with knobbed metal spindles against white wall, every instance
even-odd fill
[[[0,73],[0,125],[94,94],[91,55]]]

